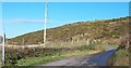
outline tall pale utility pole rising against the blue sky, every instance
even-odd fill
[[[45,19],[44,19],[44,47],[46,47],[46,23],[47,23],[47,16],[48,16],[48,0],[46,0],[45,3]]]

